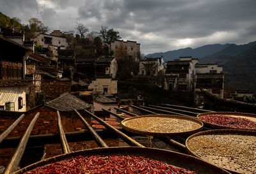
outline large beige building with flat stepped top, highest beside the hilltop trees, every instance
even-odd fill
[[[106,43],[104,43],[106,44]],[[117,51],[119,48],[124,47],[127,54],[136,62],[140,61],[140,43],[137,43],[136,41],[124,41],[124,40],[116,40],[111,43],[108,43],[109,52],[113,51],[113,55],[118,60],[118,54]]]

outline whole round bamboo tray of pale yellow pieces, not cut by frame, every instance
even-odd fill
[[[198,119],[179,115],[142,115],[122,120],[121,124],[129,132],[152,136],[183,136],[197,133],[204,126]]]

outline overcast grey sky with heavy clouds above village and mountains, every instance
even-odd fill
[[[107,25],[144,54],[256,40],[256,0],[0,0],[0,11],[22,24],[36,17],[51,31]]]

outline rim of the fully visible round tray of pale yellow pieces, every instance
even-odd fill
[[[124,122],[126,122],[127,120],[138,119],[138,118],[141,118],[141,117],[175,117],[175,118],[178,118],[178,119],[193,120],[193,122],[196,122],[197,124],[199,124],[200,127],[198,127],[197,129],[193,129],[191,131],[186,131],[186,132],[181,132],[181,133],[151,133],[151,132],[148,132],[148,131],[140,131],[138,129],[132,129],[131,127],[127,127],[127,126],[124,125]],[[183,136],[183,135],[198,133],[199,131],[201,131],[204,128],[204,123],[201,120],[196,119],[196,117],[193,118],[193,117],[186,117],[186,116],[182,116],[182,115],[167,115],[167,114],[140,115],[140,116],[136,116],[136,117],[129,117],[127,119],[122,120],[121,125],[126,131],[129,131],[131,133],[152,135],[152,136]]]

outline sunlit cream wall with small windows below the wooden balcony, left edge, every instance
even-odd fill
[[[16,112],[26,111],[26,89],[28,86],[9,86],[0,87],[0,105],[5,106],[5,103],[13,102]],[[18,98],[22,98],[22,108],[19,109]],[[5,107],[4,107],[5,110]]]

